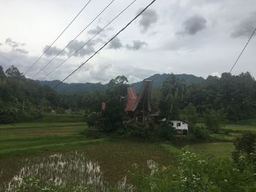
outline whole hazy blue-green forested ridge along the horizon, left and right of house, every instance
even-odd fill
[[[151,77],[148,77],[146,79],[153,80],[154,87],[160,87],[162,86],[162,82],[166,80],[170,74],[154,74]],[[204,79],[203,77],[196,77],[193,74],[176,74],[176,77],[178,79],[184,80],[184,82],[187,85],[192,84],[193,82],[202,82]],[[53,88],[55,85],[59,83],[59,80],[53,80],[53,81],[42,81],[40,82],[42,85],[49,85],[50,88]],[[142,84],[142,81],[132,83],[132,86],[139,90],[140,86]],[[108,86],[108,84],[102,85],[101,83],[62,83],[61,86],[56,90],[59,93],[91,93],[94,91],[104,91]]]

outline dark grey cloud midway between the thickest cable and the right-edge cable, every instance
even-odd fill
[[[179,31],[177,34],[181,35],[195,35],[199,31],[202,31],[206,28],[207,20],[200,15],[193,15],[192,17],[185,20],[182,24],[183,30]]]

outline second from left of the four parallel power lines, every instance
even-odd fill
[[[91,26],[91,23],[94,23],[94,21],[97,20],[97,18],[99,18],[99,16],[102,15],[102,13],[105,12],[105,10],[108,9],[108,7],[110,7],[110,4],[112,4],[113,1],[116,1],[116,0],[112,0],[112,1],[107,5],[107,7],[105,7],[104,9],[102,9],[102,11],[99,12],[99,14],[96,16],[96,18],[94,18],[93,20],[91,20],[91,22],[90,22],[85,28],[83,28],[83,30],[80,31],[80,33],[79,33],[74,39],[72,39],[72,41],[70,41],[70,42],[66,45],[66,47],[64,47],[64,48],[63,48],[57,55],[55,55],[45,66],[43,66],[42,69],[39,70],[39,72],[42,72],[42,70],[45,69],[56,57],[58,57],[59,55],[61,55],[61,53],[62,53],[67,47],[69,47],[69,45],[72,44],[72,42],[74,42],[75,39],[77,39],[77,38],[80,36],[80,34],[83,33],[83,31],[85,31],[89,26]],[[39,72],[37,72],[37,74],[39,74]],[[34,76],[32,77],[32,79],[33,79],[34,77],[36,77],[37,74],[34,74]]]

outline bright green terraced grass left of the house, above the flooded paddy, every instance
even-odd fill
[[[89,143],[83,117],[47,116],[32,123],[0,125],[0,157]],[[99,139],[100,140],[100,139]]]

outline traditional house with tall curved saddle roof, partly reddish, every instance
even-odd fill
[[[151,113],[151,89],[152,80],[143,80],[139,96],[133,88],[127,88],[127,105],[124,111],[129,118],[146,123],[147,117]]]

